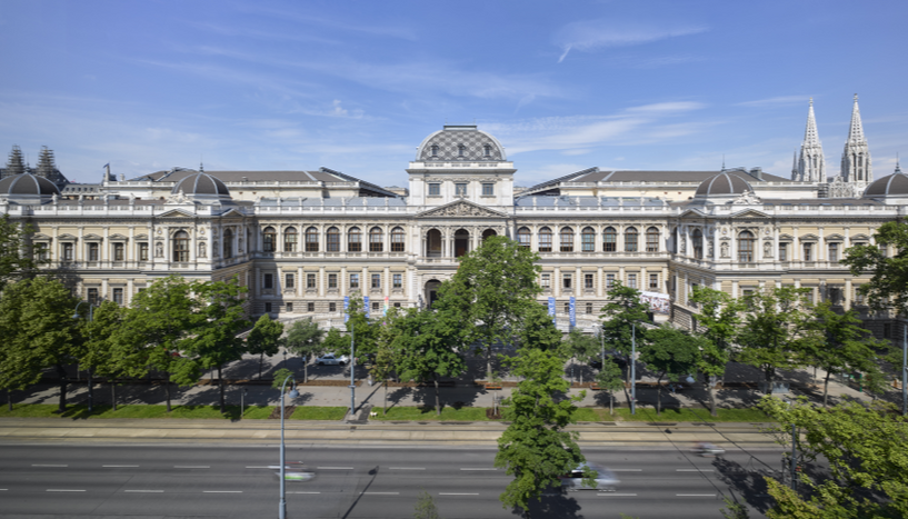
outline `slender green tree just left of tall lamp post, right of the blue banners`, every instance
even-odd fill
[[[630,362],[633,361],[630,358],[633,337],[638,345],[646,338],[646,329],[641,323],[649,320],[647,315],[649,305],[640,299],[639,290],[625,287],[621,281],[617,280],[608,290],[608,299],[609,302],[602,307],[602,333],[606,343],[622,355],[630,366]],[[630,370],[628,370],[628,383],[632,383]]]

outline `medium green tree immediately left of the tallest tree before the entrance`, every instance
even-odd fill
[[[408,309],[396,320],[400,333],[395,349],[400,351],[397,370],[403,380],[431,381],[435,386],[436,413],[441,416],[439,380],[457,377],[467,370],[467,363],[457,351],[457,329],[437,319],[431,310]]]

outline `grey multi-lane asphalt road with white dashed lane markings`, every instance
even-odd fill
[[[543,498],[533,517],[721,518],[722,496],[767,502],[760,472],[779,451],[722,459],[684,450],[585,448],[610,468],[615,492],[583,490]],[[492,448],[311,448],[288,446],[317,477],[287,482],[289,518],[409,518],[420,491],[441,517],[515,518],[498,500],[509,481]],[[277,517],[278,450],[240,446],[0,446],[2,518]],[[750,517],[762,517],[752,507]]]

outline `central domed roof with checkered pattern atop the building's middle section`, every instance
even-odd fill
[[[499,162],[508,160],[505,147],[498,139],[476,128],[476,124],[446,124],[419,144],[416,150],[419,162]]]

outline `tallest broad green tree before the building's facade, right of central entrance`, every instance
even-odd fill
[[[538,260],[528,248],[493,236],[462,257],[457,272],[439,288],[432,308],[440,318],[460,322],[460,341],[485,353],[487,377],[492,372],[492,347],[513,343],[529,309],[539,306]]]

